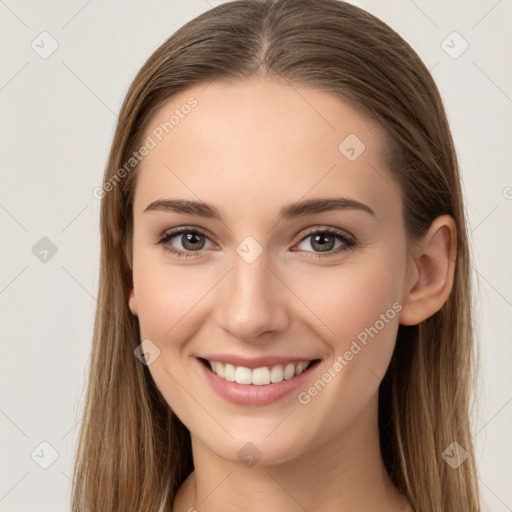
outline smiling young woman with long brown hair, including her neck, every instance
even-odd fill
[[[73,510],[480,510],[457,160],[387,25],[198,16],[133,81],[99,195]]]

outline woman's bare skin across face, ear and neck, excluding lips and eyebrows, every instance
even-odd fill
[[[408,249],[399,186],[382,157],[384,134],[330,94],[264,78],[196,86],[164,105],[147,135],[191,96],[197,106],[141,163],[129,301],[141,339],[160,350],[151,375],[192,436],[195,470],[172,512],[412,511],[383,465],[378,389],[399,323],[428,318],[450,293],[453,219],[439,217]],[[350,134],[365,145],[352,161],[338,148]],[[284,205],[334,197],[374,213],[278,218]],[[224,219],[145,211],[170,198],[212,204]],[[194,241],[204,241],[199,250],[184,245],[182,233],[167,240],[190,257],[158,243],[180,226],[203,233]],[[322,252],[313,240],[322,228],[357,243],[331,235],[333,248]],[[262,249],[251,263],[236,251],[249,236]],[[378,333],[354,354],[354,340],[371,326]],[[199,370],[198,358],[212,351],[320,363],[298,390],[302,401],[294,392],[240,405]],[[353,356],[333,376],[347,351]],[[327,385],[310,393],[329,369]],[[251,467],[237,455],[247,443],[259,453]]]

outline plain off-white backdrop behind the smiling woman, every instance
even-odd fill
[[[92,191],[137,70],[218,3],[0,0],[1,511],[69,510],[98,283]],[[511,1],[354,3],[412,45],[446,105],[477,285],[477,464],[488,510],[511,511]]]

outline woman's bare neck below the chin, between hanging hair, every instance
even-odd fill
[[[382,461],[377,395],[335,438],[287,462],[249,468],[218,457],[194,437],[192,452],[195,469],[173,512],[411,510]]]

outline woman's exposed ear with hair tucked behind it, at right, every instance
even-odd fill
[[[455,221],[442,215],[413,249],[401,324],[417,325],[442,308],[452,289],[456,255]]]

